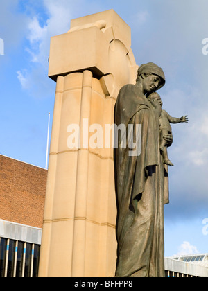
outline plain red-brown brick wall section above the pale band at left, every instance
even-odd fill
[[[0,219],[42,228],[47,173],[0,155]]]

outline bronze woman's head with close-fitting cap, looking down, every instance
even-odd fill
[[[150,94],[152,91],[158,90],[165,84],[164,71],[157,64],[148,62],[141,64],[137,71],[137,82],[142,82],[144,91]]]

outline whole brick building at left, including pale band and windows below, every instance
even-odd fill
[[[37,276],[47,172],[0,155],[0,277]]]

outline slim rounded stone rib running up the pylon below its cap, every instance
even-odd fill
[[[91,98],[92,98],[92,72],[84,71],[80,107],[81,136],[83,136],[83,134],[88,134],[88,128],[87,129],[83,128],[83,119],[86,119],[89,125]],[[81,149],[78,151],[78,165],[76,176],[77,177],[76,201],[74,216],[86,218],[89,151],[82,149],[82,143],[83,140],[81,139]],[[73,225],[73,252],[71,260],[71,276],[73,277],[85,276],[85,236],[86,236],[86,220],[75,220]]]

